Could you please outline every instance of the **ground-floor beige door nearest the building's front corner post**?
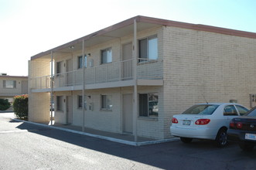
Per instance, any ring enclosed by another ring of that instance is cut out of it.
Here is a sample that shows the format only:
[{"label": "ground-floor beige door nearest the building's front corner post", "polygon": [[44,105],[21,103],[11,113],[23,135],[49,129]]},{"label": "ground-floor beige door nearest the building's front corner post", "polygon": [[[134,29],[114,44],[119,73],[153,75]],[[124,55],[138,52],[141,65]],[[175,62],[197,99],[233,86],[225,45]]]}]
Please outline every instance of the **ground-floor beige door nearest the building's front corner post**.
[{"label": "ground-floor beige door nearest the building's front corner post", "polygon": [[123,94],[123,131],[132,133],[133,131],[133,104],[132,94]]}]

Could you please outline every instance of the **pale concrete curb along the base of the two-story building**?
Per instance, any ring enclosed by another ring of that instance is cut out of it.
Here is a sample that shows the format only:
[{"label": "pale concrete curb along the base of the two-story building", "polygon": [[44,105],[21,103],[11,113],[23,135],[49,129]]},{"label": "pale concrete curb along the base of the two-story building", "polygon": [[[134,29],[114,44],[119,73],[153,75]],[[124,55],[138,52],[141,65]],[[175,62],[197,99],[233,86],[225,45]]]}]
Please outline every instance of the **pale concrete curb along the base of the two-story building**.
[{"label": "pale concrete curb along the base of the two-story building", "polygon": [[125,140],[101,136],[101,135],[97,135],[97,134],[89,134],[89,133],[86,133],[83,131],[74,131],[74,130],[70,130],[70,129],[66,129],[66,128],[60,128],[60,127],[50,126],[50,125],[46,125],[46,124],[39,124],[39,123],[35,123],[32,121],[22,121],[22,120],[15,119],[15,118],[12,118],[12,120],[24,122],[24,123],[28,123],[28,124],[35,124],[35,125],[39,125],[39,126],[42,126],[45,128],[53,128],[53,129],[57,129],[60,131],[68,131],[68,132],[71,132],[74,134],[82,134],[82,135],[87,135],[87,136],[94,137],[94,138],[101,138],[101,139],[104,139],[107,141],[114,141],[114,142],[118,142],[118,143],[125,144],[125,145],[131,145],[131,146],[152,145],[152,144],[160,144],[160,143],[169,142],[169,141],[179,141],[179,138],[169,138],[169,139],[163,139],[163,140],[157,140],[157,141],[142,141],[142,142],[125,141]]}]

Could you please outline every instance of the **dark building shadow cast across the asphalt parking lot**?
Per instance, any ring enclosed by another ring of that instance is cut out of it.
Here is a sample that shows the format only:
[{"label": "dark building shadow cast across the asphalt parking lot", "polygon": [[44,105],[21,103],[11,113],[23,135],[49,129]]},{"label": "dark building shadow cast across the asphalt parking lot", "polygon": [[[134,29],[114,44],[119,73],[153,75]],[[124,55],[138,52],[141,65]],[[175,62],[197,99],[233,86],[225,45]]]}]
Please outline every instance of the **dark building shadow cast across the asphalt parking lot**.
[{"label": "dark building shadow cast across the asphalt parking lot", "polygon": [[[77,145],[94,151],[100,151],[108,155],[114,155],[120,158],[129,159],[131,161],[140,162],[142,164],[163,169],[172,169],[172,165],[174,164],[176,164],[179,168],[184,166],[187,169],[189,165],[186,165],[186,161],[193,162],[193,160],[196,160],[197,157],[202,156],[202,153],[207,159],[209,159],[209,161],[210,159],[221,159],[222,157],[226,158],[228,157],[229,153],[227,153],[227,155],[217,155],[218,151],[224,149],[227,149],[227,151],[237,149],[236,154],[238,156],[253,160],[256,158],[255,150],[249,153],[244,153],[243,151],[240,151],[239,148],[237,148],[237,146],[234,144],[227,146],[227,148],[217,148],[213,145],[212,141],[195,140],[188,145],[185,145],[180,141],[172,141],[162,144],[135,147],[112,141],[106,141],[100,138],[92,138],[83,134],[73,134],[67,131],[40,127],[38,125],[28,124],[26,122],[23,122],[17,128],[22,130],[26,129],[32,133],[68,142],[72,145]],[[184,162],[181,162],[181,160]]]}]

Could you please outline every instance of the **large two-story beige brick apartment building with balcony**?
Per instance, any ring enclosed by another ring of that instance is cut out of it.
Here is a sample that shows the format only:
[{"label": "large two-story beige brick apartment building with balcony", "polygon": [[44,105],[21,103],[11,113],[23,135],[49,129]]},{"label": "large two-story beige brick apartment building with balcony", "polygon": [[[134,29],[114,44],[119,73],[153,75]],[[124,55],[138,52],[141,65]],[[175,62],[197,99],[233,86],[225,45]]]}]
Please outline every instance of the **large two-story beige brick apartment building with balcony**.
[{"label": "large two-story beige brick apartment building with balcony", "polygon": [[136,16],[32,56],[29,121],[50,120],[52,92],[58,123],[169,138],[193,104],[249,107],[255,65],[256,33]]}]

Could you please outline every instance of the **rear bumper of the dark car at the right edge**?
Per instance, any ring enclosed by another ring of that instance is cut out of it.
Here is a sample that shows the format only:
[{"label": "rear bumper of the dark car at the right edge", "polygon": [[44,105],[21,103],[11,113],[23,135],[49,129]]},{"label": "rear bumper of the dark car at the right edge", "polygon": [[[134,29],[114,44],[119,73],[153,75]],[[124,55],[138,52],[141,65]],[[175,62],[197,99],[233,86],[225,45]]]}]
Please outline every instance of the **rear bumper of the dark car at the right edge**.
[{"label": "rear bumper of the dark car at the right edge", "polygon": [[246,133],[250,133],[250,131],[238,131],[238,130],[234,130],[234,129],[228,129],[227,130],[227,140],[234,141],[237,143],[256,145],[256,141],[247,140],[244,138]]}]

